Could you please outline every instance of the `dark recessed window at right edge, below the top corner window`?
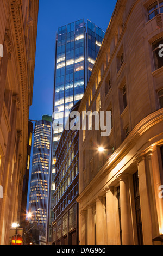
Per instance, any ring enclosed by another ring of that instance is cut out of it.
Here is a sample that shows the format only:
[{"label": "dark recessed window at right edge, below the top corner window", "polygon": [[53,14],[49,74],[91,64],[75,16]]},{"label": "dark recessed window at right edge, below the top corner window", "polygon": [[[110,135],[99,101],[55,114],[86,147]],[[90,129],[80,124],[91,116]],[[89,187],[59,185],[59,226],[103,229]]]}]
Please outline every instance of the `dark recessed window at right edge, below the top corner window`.
[{"label": "dark recessed window at right edge, below the top corner window", "polygon": [[159,69],[163,66],[163,57],[159,56],[159,51],[161,48],[159,47],[161,44],[163,44],[163,38],[160,38],[153,42],[152,44],[152,51],[153,51],[153,59],[154,59],[154,66],[155,70]]}]

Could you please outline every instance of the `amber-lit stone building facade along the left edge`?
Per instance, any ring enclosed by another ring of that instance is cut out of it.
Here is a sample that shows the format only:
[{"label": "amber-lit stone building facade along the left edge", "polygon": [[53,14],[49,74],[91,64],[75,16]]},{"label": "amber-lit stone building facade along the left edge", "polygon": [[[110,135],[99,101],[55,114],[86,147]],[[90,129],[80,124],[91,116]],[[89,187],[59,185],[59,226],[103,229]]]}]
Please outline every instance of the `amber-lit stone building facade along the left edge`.
[{"label": "amber-lit stone building facade along the left edge", "polygon": [[19,223],[32,105],[39,0],[0,2],[0,244]]}]

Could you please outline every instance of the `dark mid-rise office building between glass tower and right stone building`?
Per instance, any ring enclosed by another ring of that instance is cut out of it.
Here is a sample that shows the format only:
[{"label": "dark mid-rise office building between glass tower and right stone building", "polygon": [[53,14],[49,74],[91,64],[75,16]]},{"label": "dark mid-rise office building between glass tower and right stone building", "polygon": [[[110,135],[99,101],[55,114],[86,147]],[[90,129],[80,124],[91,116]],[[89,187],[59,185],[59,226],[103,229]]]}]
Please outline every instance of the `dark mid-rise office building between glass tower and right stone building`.
[{"label": "dark mid-rise office building between glass tower and right stone building", "polygon": [[[79,104],[71,112],[78,111]],[[56,157],[52,245],[78,245],[79,131],[62,132]]]}]

